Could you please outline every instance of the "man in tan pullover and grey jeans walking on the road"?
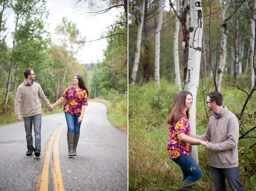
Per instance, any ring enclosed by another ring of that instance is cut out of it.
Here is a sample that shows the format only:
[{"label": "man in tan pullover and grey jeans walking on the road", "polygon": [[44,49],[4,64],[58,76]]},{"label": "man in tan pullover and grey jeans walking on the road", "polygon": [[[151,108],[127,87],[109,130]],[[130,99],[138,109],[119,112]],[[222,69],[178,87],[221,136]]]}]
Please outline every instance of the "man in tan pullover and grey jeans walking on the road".
[{"label": "man in tan pullover and grey jeans walking on the road", "polygon": [[[52,105],[44,95],[44,92],[40,84],[34,82],[35,73],[34,69],[26,69],[24,72],[25,80],[22,83],[16,93],[15,98],[15,114],[18,121],[22,121],[20,115],[20,103],[22,103],[22,115],[25,124],[27,156],[34,154],[36,157],[40,156],[41,152],[41,121],[42,121],[42,105],[40,99],[46,104],[48,110],[52,111]],[[40,98],[40,99],[39,99]],[[34,124],[34,134],[35,134],[35,147],[33,146],[32,137],[32,124]]]}]

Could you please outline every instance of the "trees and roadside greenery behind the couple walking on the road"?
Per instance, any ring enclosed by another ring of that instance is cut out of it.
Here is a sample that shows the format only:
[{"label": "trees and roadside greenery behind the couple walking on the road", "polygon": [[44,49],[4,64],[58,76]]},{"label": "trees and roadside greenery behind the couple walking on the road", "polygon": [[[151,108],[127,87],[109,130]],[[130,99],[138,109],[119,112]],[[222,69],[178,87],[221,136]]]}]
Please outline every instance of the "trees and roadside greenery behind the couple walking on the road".
[{"label": "trees and roadside greenery behind the couple walking on the road", "polygon": [[[126,2],[126,3],[125,3]],[[16,122],[14,99],[24,81],[24,70],[33,68],[39,83],[53,104],[72,85],[75,74],[84,77],[89,100],[104,102],[115,126],[127,132],[127,1],[76,0],[76,6],[86,7],[90,14],[104,14],[119,9],[100,39],[107,39],[104,58],[98,63],[78,63],[76,53],[85,44],[75,21],[64,17],[55,28],[58,42],[52,43],[47,31],[48,10],[45,0],[3,0],[0,2],[0,125]],[[14,31],[7,23],[14,14]],[[81,17],[83,15],[81,14]],[[12,45],[6,44],[12,39]],[[97,39],[95,39],[97,40]],[[60,106],[54,112],[62,112]],[[50,114],[42,104],[43,114]]]}]

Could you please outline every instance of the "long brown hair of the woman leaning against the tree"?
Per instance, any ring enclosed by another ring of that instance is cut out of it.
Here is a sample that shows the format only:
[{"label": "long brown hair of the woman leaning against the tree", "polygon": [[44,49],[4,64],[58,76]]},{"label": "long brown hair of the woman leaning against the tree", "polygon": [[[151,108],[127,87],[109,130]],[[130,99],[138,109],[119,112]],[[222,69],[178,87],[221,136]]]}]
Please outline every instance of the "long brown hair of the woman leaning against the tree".
[{"label": "long brown hair of the woman leaning against the tree", "polygon": [[[175,99],[174,105],[168,117],[168,124],[175,124],[182,117],[186,104],[186,96],[191,95],[189,91],[180,91]],[[193,96],[192,96],[193,97]],[[189,119],[189,110],[186,111],[187,118]]]}]

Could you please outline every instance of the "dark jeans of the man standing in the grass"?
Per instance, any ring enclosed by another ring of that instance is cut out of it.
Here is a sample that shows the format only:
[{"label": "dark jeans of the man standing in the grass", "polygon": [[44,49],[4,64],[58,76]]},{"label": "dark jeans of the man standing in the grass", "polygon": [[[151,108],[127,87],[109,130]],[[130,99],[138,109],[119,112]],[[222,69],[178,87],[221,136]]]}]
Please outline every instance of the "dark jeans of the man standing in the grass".
[{"label": "dark jeans of the man standing in the grass", "polygon": [[214,168],[211,166],[212,178],[217,191],[226,191],[226,179],[232,191],[242,191],[238,167],[233,168]]}]

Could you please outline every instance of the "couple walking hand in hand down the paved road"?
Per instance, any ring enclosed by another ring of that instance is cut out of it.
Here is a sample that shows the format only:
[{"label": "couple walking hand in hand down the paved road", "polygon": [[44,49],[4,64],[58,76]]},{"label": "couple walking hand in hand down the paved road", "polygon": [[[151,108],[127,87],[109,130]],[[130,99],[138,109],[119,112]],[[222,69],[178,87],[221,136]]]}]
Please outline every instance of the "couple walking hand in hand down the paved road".
[{"label": "couple walking hand in hand down the paved road", "polygon": [[[76,147],[80,136],[80,126],[83,120],[88,96],[88,89],[84,83],[84,79],[80,75],[75,75],[73,78],[73,86],[68,87],[62,94],[62,97],[51,105],[44,95],[40,84],[34,82],[36,77],[34,69],[26,69],[24,75],[26,79],[17,89],[14,108],[16,118],[21,122],[20,104],[22,103],[22,115],[28,148],[26,155],[31,156],[34,152],[35,156],[39,157],[41,154],[41,99],[50,112],[66,100],[63,110],[68,126],[68,156],[76,156]],[[32,124],[34,124],[35,147],[33,146]]]}]

